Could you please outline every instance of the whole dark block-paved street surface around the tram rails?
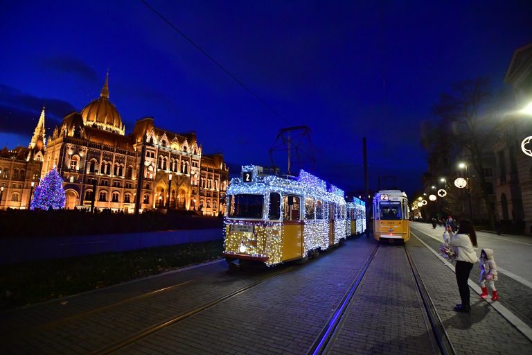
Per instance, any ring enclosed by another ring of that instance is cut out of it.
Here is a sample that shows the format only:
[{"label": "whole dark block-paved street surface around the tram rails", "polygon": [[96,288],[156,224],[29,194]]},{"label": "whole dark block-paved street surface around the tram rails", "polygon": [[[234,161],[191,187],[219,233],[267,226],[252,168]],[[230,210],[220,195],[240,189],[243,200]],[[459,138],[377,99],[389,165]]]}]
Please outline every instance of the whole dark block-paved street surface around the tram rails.
[{"label": "whole dark block-paved street surface around the tram rails", "polygon": [[[455,313],[452,306],[459,295],[453,270],[434,254],[440,231],[413,223],[412,232],[407,248],[456,353],[529,354],[532,342],[523,332],[530,329],[531,288],[502,273],[497,284],[501,301],[490,304],[472,291],[471,313]],[[530,248],[524,238],[511,237],[519,243],[505,243],[504,238],[510,237],[479,236],[481,245],[492,246],[496,255],[505,244],[501,254]],[[10,311],[0,315],[0,351],[306,354],[377,245],[362,236],[308,263],[265,271],[230,274],[224,261],[213,262]],[[517,260],[502,264],[529,279]],[[474,269],[472,281],[477,274]],[[510,315],[499,313],[497,304]],[[520,327],[511,323],[512,314],[522,320]],[[141,334],[172,319],[172,324]],[[383,244],[348,306],[330,353],[436,354],[431,339],[402,245]]]}]

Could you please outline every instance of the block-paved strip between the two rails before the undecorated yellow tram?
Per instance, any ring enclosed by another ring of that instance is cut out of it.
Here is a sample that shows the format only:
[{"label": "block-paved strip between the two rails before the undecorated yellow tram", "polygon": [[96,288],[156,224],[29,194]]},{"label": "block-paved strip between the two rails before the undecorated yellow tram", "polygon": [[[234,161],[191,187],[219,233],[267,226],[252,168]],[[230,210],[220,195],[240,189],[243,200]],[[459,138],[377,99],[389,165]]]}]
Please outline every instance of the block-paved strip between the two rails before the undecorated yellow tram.
[{"label": "block-paved strip between the two rails before the undecorated yellow tram", "polygon": [[434,354],[402,245],[375,254],[330,354]]}]

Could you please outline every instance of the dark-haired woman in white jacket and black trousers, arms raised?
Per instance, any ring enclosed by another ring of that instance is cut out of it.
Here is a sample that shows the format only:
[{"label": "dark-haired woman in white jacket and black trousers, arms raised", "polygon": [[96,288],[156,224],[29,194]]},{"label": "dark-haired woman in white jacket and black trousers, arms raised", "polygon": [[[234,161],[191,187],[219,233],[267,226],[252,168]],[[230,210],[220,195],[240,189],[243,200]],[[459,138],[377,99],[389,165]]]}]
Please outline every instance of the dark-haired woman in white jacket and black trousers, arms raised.
[{"label": "dark-haired woman in white jacket and black trousers, arms raised", "polygon": [[[473,264],[477,262],[477,234],[470,220],[463,219],[460,222],[459,230],[456,234],[452,231],[450,224],[446,225],[447,230],[443,233],[443,239],[447,247],[453,247],[456,251],[456,284],[460,293],[461,304],[456,304],[454,311],[469,312],[471,305],[469,303],[469,286],[468,279]],[[447,235],[445,235],[447,234]]]}]

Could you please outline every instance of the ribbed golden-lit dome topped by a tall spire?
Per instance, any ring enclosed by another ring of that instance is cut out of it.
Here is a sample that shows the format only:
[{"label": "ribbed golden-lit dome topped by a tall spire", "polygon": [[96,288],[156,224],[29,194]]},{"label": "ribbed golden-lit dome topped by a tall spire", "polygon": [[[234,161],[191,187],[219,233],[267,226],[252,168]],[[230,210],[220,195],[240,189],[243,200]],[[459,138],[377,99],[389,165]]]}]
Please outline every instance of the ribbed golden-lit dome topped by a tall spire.
[{"label": "ribbed golden-lit dome topped by a tall spire", "polygon": [[118,135],[125,134],[125,126],[116,107],[109,101],[109,73],[105,78],[100,98],[91,101],[89,105],[81,110],[83,117],[83,124],[87,127],[94,127],[107,132],[117,133]]}]

